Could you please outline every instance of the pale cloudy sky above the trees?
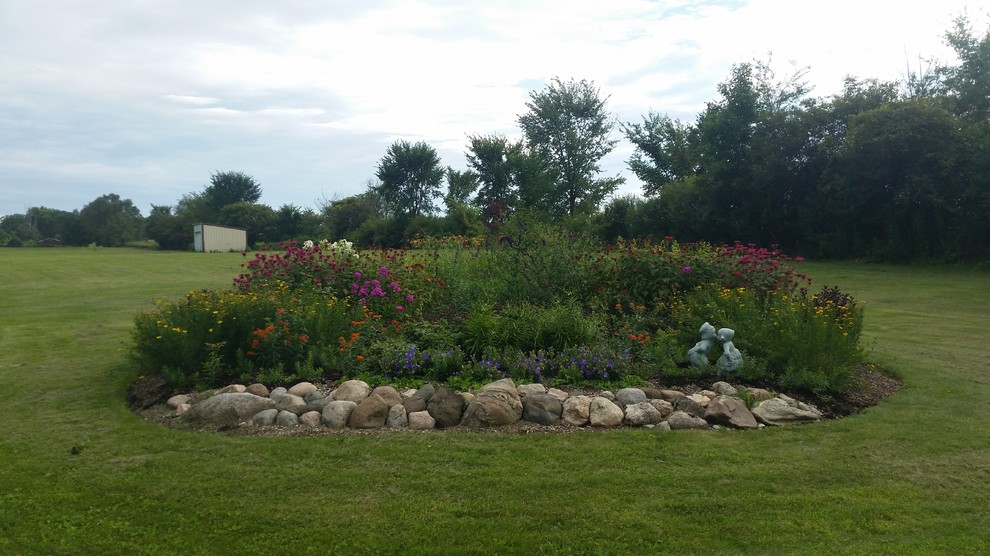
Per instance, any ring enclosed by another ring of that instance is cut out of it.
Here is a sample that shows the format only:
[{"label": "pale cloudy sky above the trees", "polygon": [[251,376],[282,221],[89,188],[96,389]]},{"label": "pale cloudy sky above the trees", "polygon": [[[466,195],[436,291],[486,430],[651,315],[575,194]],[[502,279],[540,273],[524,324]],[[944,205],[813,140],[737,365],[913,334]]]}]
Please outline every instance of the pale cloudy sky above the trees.
[{"label": "pale cloudy sky above the trees", "polygon": [[[693,122],[733,64],[847,76],[954,63],[942,36],[982,2],[886,0],[0,0],[0,216],[142,214],[237,171],[278,208],[366,190],[398,139],[465,169],[469,135],[520,137],[554,77],[587,79],[617,122]],[[640,184],[618,127],[603,173]]]}]

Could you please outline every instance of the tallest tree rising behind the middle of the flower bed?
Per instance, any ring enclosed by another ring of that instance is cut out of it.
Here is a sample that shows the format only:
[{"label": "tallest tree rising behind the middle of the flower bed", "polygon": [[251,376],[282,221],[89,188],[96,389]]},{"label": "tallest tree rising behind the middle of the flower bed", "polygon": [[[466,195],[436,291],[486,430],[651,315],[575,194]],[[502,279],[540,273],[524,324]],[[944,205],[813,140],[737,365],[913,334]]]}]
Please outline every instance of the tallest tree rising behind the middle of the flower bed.
[{"label": "tallest tree rising behind the middle of the flower bed", "polygon": [[539,152],[557,176],[555,212],[590,213],[624,179],[599,178],[599,161],[615,148],[614,122],[593,83],[554,78],[543,91],[530,93],[529,111],[519,116],[529,147]]}]

